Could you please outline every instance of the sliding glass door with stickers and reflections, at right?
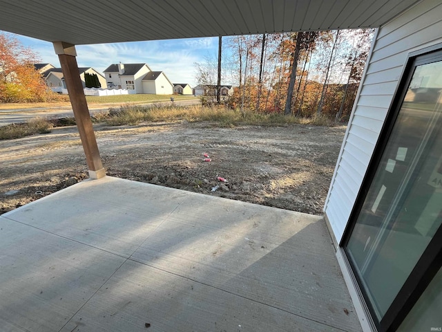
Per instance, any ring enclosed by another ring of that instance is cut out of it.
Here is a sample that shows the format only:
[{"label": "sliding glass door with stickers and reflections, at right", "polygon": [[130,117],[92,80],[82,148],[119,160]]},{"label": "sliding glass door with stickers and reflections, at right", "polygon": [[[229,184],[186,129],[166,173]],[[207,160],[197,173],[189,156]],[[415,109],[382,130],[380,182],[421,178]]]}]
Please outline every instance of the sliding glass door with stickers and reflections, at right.
[{"label": "sliding glass door with stickers and reflections, at right", "polygon": [[398,298],[419,287],[429,266],[440,267],[428,257],[439,250],[430,243],[442,240],[442,54],[416,57],[397,94],[344,243],[380,330],[410,310]]}]

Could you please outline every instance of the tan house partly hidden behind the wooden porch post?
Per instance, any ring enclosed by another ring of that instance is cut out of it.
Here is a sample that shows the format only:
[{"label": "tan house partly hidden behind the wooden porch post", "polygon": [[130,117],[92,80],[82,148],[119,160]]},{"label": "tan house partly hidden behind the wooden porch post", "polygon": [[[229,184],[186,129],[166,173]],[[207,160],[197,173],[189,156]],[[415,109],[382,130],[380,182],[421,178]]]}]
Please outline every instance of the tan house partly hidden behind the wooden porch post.
[{"label": "tan house partly hidden behind the wooden porch post", "polygon": [[[37,71],[39,71],[39,73],[41,73],[41,76],[44,78],[46,85],[48,85],[50,88],[66,89],[66,84],[64,84],[64,77],[61,68],[55,68],[55,66],[52,66],[52,64],[34,64],[34,67]],[[86,87],[86,82],[84,80],[85,73],[97,75],[101,87],[106,87],[106,79],[101,73],[95,71],[94,68],[81,67],[78,69],[80,72],[80,78],[81,82],[83,83],[83,87]]]}]

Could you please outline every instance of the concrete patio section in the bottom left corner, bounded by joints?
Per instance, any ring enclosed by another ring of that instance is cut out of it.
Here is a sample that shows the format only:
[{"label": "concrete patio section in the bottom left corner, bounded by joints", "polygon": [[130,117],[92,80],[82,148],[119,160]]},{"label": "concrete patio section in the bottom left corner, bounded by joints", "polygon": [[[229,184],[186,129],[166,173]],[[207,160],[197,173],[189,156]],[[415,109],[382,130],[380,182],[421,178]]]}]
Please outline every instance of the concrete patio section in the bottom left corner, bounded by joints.
[{"label": "concrete patio section in the bottom left corner, bounded by joints", "polygon": [[0,216],[0,330],[59,331],[124,261]]}]

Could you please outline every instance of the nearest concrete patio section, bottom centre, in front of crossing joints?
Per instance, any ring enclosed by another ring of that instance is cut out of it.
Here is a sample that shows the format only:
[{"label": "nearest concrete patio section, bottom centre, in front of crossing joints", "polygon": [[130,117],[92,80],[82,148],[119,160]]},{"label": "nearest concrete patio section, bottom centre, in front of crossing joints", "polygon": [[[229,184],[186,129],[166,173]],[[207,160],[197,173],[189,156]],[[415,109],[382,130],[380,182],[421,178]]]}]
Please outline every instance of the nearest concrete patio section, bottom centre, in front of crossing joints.
[{"label": "nearest concrete patio section, bottom centre, in front of crossing joints", "polygon": [[127,261],[61,331],[342,330]]}]

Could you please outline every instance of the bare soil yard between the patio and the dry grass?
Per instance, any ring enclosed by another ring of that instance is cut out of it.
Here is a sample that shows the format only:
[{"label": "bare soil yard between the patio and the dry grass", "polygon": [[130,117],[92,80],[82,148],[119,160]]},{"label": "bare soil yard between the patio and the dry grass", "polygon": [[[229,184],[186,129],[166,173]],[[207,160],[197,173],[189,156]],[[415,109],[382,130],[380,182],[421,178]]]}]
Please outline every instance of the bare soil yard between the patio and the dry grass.
[{"label": "bare soil yard between the patio and the dry grass", "polygon": [[[108,175],[309,214],[323,212],[345,133],[302,124],[187,122],[95,130]],[[0,141],[0,153],[0,214],[87,178],[76,127]]]}]

